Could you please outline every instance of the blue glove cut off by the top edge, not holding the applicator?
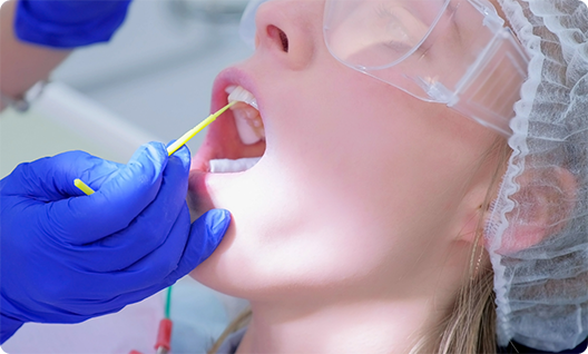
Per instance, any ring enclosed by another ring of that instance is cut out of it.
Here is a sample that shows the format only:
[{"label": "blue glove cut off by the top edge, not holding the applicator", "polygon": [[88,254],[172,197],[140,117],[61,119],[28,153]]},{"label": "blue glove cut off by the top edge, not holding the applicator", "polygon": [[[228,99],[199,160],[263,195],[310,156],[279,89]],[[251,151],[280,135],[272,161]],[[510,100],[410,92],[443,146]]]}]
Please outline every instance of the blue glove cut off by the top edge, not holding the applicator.
[{"label": "blue glove cut off by the top edge, not holding the applicator", "polygon": [[19,0],[14,30],[23,41],[74,48],[110,40],[130,0]]}]

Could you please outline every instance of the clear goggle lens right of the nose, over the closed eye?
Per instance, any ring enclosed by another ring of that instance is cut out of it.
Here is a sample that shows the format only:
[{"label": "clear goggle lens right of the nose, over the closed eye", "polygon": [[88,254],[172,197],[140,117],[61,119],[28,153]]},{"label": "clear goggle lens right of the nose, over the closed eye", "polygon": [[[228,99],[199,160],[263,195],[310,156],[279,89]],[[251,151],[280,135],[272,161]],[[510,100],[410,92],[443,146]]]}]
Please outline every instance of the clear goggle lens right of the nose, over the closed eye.
[{"label": "clear goggle lens right of the nose, over the closed eye", "polygon": [[393,66],[423,45],[448,3],[449,0],[327,0],[325,43],[335,58],[350,66]]}]

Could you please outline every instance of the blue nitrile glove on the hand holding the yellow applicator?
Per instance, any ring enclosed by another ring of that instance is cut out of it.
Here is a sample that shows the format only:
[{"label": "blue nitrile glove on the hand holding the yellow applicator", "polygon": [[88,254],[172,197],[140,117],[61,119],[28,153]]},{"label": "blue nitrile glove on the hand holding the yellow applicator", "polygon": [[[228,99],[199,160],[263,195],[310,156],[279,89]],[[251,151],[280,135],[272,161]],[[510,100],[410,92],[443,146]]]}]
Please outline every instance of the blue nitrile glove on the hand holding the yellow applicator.
[{"label": "blue nitrile glove on the hand holding the yellow applicator", "polygon": [[186,147],[168,158],[151,142],[127,165],[72,151],[0,180],[0,343],[24,322],[117,312],[206,259],[231,215],[212,210],[190,226],[188,169]]}]

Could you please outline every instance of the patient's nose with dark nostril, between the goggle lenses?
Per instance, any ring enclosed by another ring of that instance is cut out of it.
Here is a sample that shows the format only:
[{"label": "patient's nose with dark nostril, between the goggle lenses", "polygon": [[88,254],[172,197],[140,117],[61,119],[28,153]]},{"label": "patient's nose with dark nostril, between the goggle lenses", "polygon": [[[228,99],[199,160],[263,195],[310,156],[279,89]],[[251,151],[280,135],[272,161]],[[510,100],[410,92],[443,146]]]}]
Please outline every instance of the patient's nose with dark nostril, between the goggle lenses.
[{"label": "patient's nose with dark nostril, between the goggle lenses", "polygon": [[[322,4],[322,6],[321,6]],[[256,16],[256,47],[290,69],[307,67],[322,43],[324,1],[272,0]]]}]

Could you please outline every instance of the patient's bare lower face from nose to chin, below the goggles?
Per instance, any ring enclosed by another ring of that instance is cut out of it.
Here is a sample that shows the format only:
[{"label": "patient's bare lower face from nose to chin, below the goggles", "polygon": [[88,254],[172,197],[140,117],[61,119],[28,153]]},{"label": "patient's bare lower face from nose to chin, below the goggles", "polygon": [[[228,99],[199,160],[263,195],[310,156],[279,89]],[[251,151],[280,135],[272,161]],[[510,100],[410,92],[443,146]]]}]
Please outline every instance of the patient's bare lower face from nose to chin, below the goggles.
[{"label": "patient's bare lower face from nose to chin, below the goggles", "polygon": [[[464,204],[477,203],[468,190],[491,175],[477,166],[493,131],[336,61],[323,41],[323,0],[264,4],[255,55],[216,81],[213,109],[226,104],[226,87],[243,86],[266,136],[242,144],[228,114],[193,160],[193,214],[233,215],[218,249],[193,272],[220,292],[251,299],[416,292],[422,275],[452,262],[448,244],[472,217]],[[207,171],[210,158],[262,155],[246,171]]]}]

